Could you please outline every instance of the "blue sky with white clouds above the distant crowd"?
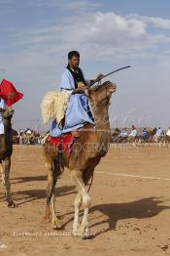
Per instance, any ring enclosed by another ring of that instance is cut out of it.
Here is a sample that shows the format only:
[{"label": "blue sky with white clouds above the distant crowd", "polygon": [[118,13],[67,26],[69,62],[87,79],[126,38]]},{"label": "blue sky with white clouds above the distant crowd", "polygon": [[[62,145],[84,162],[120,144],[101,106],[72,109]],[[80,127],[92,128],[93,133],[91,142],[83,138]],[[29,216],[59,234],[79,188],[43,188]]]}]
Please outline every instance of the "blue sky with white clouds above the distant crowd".
[{"label": "blue sky with white clouds above the distant crowd", "polygon": [[0,0],[0,79],[24,94],[14,127],[40,127],[41,100],[57,90],[67,53],[76,49],[86,78],[131,64],[109,77],[118,85],[112,126],[166,128],[169,10],[168,0]]}]

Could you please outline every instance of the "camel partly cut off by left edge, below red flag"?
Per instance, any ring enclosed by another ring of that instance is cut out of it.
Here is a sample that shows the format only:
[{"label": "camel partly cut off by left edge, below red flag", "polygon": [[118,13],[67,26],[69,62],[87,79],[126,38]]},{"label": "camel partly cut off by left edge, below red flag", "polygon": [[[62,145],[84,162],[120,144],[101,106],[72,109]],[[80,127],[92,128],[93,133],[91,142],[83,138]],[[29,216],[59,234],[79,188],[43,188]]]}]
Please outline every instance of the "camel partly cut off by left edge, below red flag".
[{"label": "camel partly cut off by left edge, below red flag", "polygon": [[13,134],[11,119],[14,114],[12,107],[1,108],[2,120],[4,124],[4,134],[0,135],[0,169],[2,173],[2,184],[7,192],[9,207],[16,207],[11,194],[10,168],[11,156],[13,152]]}]

